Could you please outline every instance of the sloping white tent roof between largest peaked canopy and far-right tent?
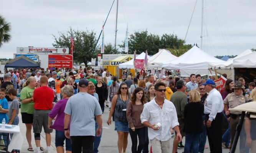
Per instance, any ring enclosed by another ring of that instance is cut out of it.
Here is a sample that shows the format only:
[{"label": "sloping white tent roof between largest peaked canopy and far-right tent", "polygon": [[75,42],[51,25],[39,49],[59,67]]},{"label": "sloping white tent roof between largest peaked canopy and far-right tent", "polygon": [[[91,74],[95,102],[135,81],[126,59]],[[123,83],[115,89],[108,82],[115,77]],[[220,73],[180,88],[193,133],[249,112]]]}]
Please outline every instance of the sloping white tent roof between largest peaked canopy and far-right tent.
[{"label": "sloping white tent roof between largest peaked canopy and far-right tent", "polygon": [[228,59],[226,62],[221,63],[209,63],[209,68],[213,69],[220,69],[220,70],[229,70],[230,68],[233,69],[233,60],[243,57],[245,55],[251,54],[252,51],[250,49],[244,50],[241,54],[237,55],[232,59]]}]

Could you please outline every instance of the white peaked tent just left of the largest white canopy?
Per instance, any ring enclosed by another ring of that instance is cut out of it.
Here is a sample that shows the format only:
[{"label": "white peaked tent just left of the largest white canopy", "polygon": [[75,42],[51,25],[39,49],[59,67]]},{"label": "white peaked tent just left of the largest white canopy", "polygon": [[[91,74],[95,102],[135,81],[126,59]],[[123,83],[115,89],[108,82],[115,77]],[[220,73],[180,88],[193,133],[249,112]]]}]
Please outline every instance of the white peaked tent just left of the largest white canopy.
[{"label": "white peaked tent just left of the largest white canopy", "polygon": [[164,62],[176,59],[177,56],[166,49],[161,49],[157,54],[148,58],[148,69],[162,68]]}]

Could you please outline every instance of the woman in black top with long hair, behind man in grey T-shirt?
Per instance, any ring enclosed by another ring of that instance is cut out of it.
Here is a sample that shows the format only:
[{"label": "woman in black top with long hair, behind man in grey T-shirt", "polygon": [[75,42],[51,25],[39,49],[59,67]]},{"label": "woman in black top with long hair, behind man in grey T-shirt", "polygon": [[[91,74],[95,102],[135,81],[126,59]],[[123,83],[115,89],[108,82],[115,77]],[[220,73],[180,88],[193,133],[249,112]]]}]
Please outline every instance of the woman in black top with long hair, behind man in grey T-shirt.
[{"label": "woman in black top with long hair, behind man in grey T-shirt", "polygon": [[102,77],[98,76],[98,83],[96,85],[96,93],[99,96],[99,105],[101,106],[102,113],[104,112],[104,103],[107,101],[107,85],[102,81]]}]

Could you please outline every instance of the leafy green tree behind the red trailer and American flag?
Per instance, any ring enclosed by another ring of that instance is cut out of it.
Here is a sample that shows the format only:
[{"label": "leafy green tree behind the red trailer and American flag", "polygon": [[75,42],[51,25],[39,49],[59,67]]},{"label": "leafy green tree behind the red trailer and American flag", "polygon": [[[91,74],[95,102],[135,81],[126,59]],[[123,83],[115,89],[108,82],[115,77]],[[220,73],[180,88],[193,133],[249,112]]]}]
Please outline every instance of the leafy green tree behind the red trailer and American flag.
[{"label": "leafy green tree behind the red trailer and American flag", "polygon": [[59,32],[59,36],[54,36],[55,43],[53,44],[54,47],[68,47],[70,50],[71,42],[70,37],[71,34],[74,35],[74,52],[73,52],[73,59],[76,62],[84,63],[87,67],[87,63],[91,61],[91,58],[96,58],[99,51],[99,45],[94,50],[96,46],[96,33],[94,31],[75,31],[71,27],[69,31],[66,31],[64,34],[63,32]]}]

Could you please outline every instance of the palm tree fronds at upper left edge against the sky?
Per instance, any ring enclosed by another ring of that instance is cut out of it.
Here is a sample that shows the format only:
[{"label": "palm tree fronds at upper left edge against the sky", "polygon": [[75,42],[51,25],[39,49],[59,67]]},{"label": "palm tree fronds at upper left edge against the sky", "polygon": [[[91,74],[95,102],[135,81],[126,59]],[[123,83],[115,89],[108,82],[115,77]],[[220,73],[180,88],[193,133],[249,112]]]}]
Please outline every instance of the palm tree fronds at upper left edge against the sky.
[{"label": "palm tree fronds at upper left edge against the sky", "polygon": [[11,40],[11,24],[5,21],[5,18],[0,15],[0,47],[2,47],[4,42],[9,42]]}]

